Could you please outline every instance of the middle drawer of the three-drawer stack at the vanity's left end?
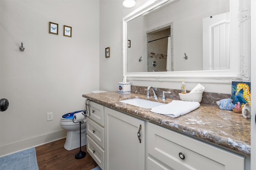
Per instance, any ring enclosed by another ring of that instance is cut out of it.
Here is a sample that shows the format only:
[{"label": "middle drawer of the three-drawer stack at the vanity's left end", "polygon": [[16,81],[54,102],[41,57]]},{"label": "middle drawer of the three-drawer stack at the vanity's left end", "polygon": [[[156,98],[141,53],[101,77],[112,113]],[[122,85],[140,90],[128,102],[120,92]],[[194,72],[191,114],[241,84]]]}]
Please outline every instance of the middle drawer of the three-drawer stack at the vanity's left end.
[{"label": "middle drawer of the three-drawer stack at the vanity's left end", "polygon": [[86,122],[86,132],[100,147],[104,149],[104,128],[92,121],[90,118]]}]

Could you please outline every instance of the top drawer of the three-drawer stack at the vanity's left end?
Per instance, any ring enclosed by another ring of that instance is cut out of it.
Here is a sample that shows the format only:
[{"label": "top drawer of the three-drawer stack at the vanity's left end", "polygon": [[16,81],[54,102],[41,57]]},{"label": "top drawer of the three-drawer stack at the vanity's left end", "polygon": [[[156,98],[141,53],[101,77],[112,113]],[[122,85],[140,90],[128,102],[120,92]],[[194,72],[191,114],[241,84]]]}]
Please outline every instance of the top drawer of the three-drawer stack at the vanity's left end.
[{"label": "top drawer of the three-drawer stack at the vanity's left end", "polygon": [[92,101],[90,101],[89,104],[90,104],[90,118],[93,121],[104,126],[104,106],[100,104],[96,104]]}]

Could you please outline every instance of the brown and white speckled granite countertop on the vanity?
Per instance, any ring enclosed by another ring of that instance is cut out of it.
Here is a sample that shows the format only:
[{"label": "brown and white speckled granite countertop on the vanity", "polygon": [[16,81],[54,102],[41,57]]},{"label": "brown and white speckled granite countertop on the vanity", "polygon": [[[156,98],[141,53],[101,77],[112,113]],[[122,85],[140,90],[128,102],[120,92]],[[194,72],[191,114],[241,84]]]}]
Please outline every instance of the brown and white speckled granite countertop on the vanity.
[{"label": "brown and white speckled granite countertop on the vanity", "polygon": [[[121,94],[118,92],[103,92],[83,94],[84,98],[98,104],[118,109],[130,115],[148,120],[163,127],[196,137],[202,141],[225,147],[243,154],[250,155],[250,119],[244,119],[240,113],[221,110],[218,106],[201,104],[196,110],[177,118],[153,113],[150,109],[132,106],[119,102],[130,98],[146,99],[141,94]],[[172,100],[146,100],[169,103]]]}]

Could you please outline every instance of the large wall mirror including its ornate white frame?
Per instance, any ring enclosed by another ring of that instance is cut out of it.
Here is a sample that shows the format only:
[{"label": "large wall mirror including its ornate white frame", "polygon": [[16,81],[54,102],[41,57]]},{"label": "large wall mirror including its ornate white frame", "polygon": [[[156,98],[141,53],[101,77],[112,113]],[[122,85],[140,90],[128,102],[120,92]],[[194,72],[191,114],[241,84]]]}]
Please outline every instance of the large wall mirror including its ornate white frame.
[{"label": "large wall mirror including its ornate white frame", "polygon": [[250,0],[156,0],[123,18],[127,80],[248,81],[248,48]]}]

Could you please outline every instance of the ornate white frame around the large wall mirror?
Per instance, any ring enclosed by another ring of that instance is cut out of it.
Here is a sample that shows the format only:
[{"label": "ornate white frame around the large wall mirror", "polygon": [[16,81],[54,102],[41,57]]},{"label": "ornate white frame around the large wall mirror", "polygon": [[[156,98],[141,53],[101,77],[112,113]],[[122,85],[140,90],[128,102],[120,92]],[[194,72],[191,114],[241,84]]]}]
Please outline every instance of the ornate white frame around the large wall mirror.
[{"label": "ornate white frame around the large wall mirror", "polygon": [[230,0],[230,70],[127,72],[127,22],[174,0],[157,0],[144,4],[123,18],[123,76],[127,80],[230,84],[232,81],[250,81],[250,0]]}]

